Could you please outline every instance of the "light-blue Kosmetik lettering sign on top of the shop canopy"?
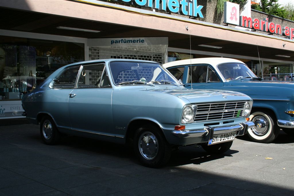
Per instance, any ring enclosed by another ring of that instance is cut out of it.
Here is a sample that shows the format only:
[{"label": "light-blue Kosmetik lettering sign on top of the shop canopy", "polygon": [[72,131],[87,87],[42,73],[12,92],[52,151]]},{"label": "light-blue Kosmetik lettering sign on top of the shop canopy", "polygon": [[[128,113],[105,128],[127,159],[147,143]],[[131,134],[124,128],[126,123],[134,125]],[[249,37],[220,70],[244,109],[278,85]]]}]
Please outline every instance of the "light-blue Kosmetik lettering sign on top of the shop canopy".
[{"label": "light-blue Kosmetik lettering sign on top of the shop canopy", "polygon": [[[106,1],[106,0],[104,0]],[[203,18],[201,9],[203,6],[197,5],[197,0],[113,0],[121,1],[141,7],[148,7],[163,10],[175,14],[194,16]]]}]

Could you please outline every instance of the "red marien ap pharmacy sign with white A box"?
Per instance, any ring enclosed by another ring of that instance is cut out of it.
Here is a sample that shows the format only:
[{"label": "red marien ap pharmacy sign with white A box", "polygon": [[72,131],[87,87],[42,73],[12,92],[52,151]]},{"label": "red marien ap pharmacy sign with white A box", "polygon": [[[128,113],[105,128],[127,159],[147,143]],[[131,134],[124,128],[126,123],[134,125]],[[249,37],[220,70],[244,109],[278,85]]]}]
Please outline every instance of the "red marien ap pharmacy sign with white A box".
[{"label": "red marien ap pharmacy sign with white A box", "polygon": [[255,29],[259,31],[265,31],[272,34],[278,34],[287,36],[289,39],[294,39],[294,28],[288,26],[281,26],[269,22],[268,18],[259,20],[252,19],[248,16],[239,16],[239,5],[231,2],[225,2],[225,20],[226,24],[233,24],[236,26],[242,26],[245,28]]}]

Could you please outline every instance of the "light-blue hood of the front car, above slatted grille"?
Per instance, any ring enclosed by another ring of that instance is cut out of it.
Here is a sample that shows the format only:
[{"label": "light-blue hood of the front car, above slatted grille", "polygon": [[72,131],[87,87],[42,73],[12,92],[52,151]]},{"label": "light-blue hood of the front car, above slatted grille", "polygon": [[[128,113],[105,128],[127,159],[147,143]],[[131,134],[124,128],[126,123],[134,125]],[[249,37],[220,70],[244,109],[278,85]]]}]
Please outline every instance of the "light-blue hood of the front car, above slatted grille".
[{"label": "light-blue hood of the front car, above slatted grille", "polygon": [[176,96],[180,99],[189,100],[191,103],[225,102],[237,100],[250,100],[250,97],[243,93],[220,90],[199,90],[199,89],[153,89],[152,92],[161,92]]}]

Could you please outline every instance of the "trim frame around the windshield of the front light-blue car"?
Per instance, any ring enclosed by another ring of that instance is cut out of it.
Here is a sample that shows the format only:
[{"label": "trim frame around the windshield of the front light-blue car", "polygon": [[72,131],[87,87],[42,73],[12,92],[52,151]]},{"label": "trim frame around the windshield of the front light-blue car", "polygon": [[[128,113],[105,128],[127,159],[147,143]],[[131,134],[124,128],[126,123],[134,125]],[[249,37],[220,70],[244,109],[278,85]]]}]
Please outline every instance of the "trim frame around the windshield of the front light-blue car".
[{"label": "trim frame around the windshield of the front light-blue car", "polygon": [[113,78],[113,75],[112,75],[112,72],[111,72],[111,67],[110,67],[110,64],[112,62],[124,62],[124,63],[127,63],[127,62],[130,62],[130,63],[149,63],[149,64],[157,64],[159,65],[164,71],[166,71],[166,73],[168,74],[168,76],[170,76],[171,78],[173,78],[174,81],[176,81],[174,84],[171,83],[171,84],[154,84],[154,85],[176,85],[176,86],[181,86],[181,84],[178,82],[178,80],[165,68],[163,67],[160,63],[157,63],[157,62],[153,62],[153,61],[121,61],[121,60],[115,60],[115,61],[109,61],[108,62],[108,68],[109,68],[109,73],[111,75],[111,80],[113,82],[113,85],[114,86],[118,86],[118,87],[122,87],[122,86],[146,86],[148,84],[130,84],[130,85],[117,85],[114,81],[114,78]]}]

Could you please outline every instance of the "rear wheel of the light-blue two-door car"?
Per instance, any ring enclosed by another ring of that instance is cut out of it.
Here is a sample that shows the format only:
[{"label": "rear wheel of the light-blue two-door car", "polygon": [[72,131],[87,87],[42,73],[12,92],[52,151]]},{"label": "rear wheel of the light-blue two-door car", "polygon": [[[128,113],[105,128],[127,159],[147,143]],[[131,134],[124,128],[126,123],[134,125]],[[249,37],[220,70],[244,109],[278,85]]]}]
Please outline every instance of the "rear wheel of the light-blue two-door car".
[{"label": "rear wheel of the light-blue two-door car", "polygon": [[41,120],[40,124],[41,138],[45,144],[54,145],[60,138],[60,133],[56,128],[53,119],[49,116],[45,116]]}]

